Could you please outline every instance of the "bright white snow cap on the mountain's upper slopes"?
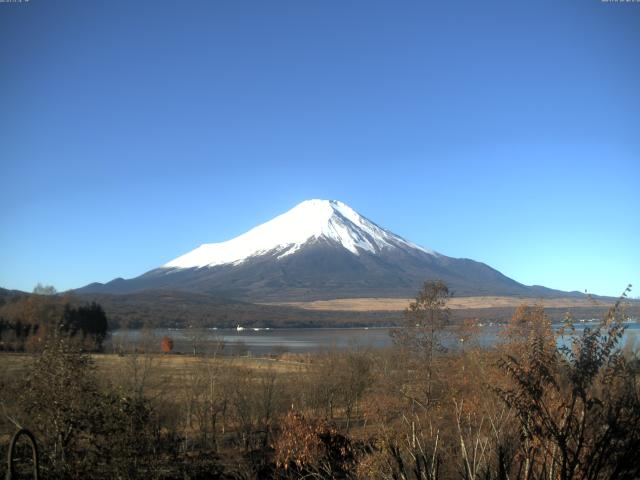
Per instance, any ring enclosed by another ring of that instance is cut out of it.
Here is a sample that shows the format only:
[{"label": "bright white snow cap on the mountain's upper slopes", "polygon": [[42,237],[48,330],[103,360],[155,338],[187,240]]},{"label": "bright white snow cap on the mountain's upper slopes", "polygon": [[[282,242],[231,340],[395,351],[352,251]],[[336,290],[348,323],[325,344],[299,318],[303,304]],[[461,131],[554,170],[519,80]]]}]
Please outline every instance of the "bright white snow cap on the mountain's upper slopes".
[{"label": "bright white snow cap on the mountain's upper slopes", "polygon": [[269,252],[282,259],[319,239],[335,242],[355,255],[360,251],[375,254],[396,248],[418,249],[438,255],[379,227],[342,202],[307,200],[232,240],[203,244],[162,268],[239,265],[251,257]]}]

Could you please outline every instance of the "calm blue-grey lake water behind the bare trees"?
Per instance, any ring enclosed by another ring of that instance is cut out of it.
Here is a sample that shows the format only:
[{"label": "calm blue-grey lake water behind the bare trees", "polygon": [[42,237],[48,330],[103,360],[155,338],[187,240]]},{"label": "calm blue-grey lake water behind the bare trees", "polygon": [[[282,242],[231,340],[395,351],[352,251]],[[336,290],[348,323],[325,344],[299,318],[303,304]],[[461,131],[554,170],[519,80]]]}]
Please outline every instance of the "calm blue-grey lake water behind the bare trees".
[{"label": "calm blue-grey lake water behind the bare trees", "polygon": [[[578,323],[580,331],[595,323]],[[500,326],[487,324],[478,328],[477,334],[468,339],[482,347],[495,345],[500,341]],[[113,333],[111,345],[107,349],[123,344],[148,343],[157,345],[164,336],[174,342],[174,353],[191,354],[211,352],[224,345],[225,354],[268,355],[273,353],[304,353],[333,348],[384,348],[392,345],[389,328],[274,328],[274,329],[154,329],[146,333],[142,330],[118,330]],[[640,344],[640,322],[626,324],[623,343]],[[462,343],[454,330],[443,339],[447,347],[459,348]]]}]

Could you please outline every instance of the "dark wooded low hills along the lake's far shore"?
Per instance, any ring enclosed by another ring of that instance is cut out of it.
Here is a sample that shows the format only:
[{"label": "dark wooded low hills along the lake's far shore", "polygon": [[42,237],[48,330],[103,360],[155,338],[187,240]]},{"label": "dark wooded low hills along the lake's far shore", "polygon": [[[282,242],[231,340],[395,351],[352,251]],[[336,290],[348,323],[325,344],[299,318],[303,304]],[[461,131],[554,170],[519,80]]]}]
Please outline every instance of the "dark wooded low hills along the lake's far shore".
[{"label": "dark wooded low hills along the lake's far shore", "polygon": [[[3,304],[14,302],[20,298],[33,294],[17,290],[0,288],[0,317]],[[384,303],[376,308],[381,310],[353,311],[315,310],[289,305],[263,305],[243,301],[229,300],[207,294],[185,291],[147,290],[131,294],[58,294],[51,297],[52,301],[63,300],[73,305],[84,305],[92,301],[98,302],[104,308],[111,329],[120,327],[142,328],[148,327],[218,327],[233,328],[236,325],[244,327],[351,327],[351,326],[391,326],[402,318],[402,309],[408,305],[394,301]],[[531,299],[529,299],[531,300]],[[363,299],[362,301],[367,301]],[[337,302],[338,304],[340,302]],[[499,305],[495,299],[487,299],[483,303],[475,299],[469,308],[455,306],[452,316],[454,321],[473,318],[483,321],[506,321],[514,311],[513,302],[509,306]],[[465,303],[465,302],[462,302]],[[550,301],[551,304],[558,302]],[[374,302],[375,304],[375,302]],[[576,305],[580,305],[576,303]],[[608,307],[604,306],[552,306],[545,310],[554,320],[564,318],[567,311],[575,318],[599,318]],[[640,302],[630,302],[627,312],[631,316],[640,317]]]}]

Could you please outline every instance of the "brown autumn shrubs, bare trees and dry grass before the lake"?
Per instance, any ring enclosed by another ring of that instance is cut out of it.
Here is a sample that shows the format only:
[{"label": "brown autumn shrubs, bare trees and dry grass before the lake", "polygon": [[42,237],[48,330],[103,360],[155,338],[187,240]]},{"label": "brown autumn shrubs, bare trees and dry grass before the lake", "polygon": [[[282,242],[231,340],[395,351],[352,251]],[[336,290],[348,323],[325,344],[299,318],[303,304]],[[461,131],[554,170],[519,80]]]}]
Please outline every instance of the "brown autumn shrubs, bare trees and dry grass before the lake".
[{"label": "brown autumn shrubs, bare trees and dry grass before the lake", "polygon": [[192,357],[155,343],[90,354],[90,335],[51,327],[37,354],[0,357],[1,443],[32,430],[44,478],[640,476],[624,298],[581,333],[523,305],[494,350],[461,324],[456,352],[439,341],[448,298],[425,284],[394,348],[277,360],[223,357],[222,344]]}]

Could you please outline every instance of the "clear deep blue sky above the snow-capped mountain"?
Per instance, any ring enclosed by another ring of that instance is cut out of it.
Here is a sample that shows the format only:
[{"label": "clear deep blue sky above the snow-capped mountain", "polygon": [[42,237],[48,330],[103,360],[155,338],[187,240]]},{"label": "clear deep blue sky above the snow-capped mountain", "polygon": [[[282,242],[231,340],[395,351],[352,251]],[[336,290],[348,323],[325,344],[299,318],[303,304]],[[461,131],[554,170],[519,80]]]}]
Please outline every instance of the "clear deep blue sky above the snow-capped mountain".
[{"label": "clear deep blue sky above the snow-capped mountain", "polygon": [[640,4],[0,3],[0,286],[137,276],[309,198],[640,295]]}]

